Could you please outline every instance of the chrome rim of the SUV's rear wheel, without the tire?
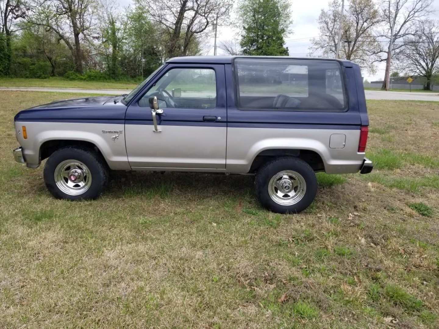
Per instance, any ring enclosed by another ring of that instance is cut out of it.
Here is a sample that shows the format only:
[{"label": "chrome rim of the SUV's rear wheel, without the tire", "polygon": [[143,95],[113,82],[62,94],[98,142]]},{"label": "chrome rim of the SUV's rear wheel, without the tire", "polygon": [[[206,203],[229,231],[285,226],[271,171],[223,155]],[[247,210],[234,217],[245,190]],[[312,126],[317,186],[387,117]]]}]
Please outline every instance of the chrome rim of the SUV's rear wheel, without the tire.
[{"label": "chrome rim of the SUV's rear wheel, without the tire", "polygon": [[306,182],[302,175],[284,170],[274,175],[268,183],[271,200],[282,206],[296,204],[305,196]]}]

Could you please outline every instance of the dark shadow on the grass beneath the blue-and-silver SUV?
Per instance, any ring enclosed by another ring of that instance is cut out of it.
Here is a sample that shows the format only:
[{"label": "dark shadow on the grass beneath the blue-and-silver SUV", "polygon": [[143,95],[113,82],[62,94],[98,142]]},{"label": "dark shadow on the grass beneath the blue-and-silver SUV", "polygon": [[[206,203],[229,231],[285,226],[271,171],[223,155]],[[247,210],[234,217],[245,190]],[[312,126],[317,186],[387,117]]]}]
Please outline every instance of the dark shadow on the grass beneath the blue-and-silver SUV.
[{"label": "dark shadow on the grass beneath the blue-and-silver SUV", "polygon": [[[174,202],[234,201],[247,207],[260,208],[255,193],[254,176],[191,172],[111,172],[106,197],[161,199]],[[354,193],[343,193],[347,180],[339,175],[317,175],[319,190],[315,202],[306,212],[317,207],[339,208],[358,199]],[[337,188],[337,185],[343,187]],[[329,201],[331,200],[331,202]]]}]

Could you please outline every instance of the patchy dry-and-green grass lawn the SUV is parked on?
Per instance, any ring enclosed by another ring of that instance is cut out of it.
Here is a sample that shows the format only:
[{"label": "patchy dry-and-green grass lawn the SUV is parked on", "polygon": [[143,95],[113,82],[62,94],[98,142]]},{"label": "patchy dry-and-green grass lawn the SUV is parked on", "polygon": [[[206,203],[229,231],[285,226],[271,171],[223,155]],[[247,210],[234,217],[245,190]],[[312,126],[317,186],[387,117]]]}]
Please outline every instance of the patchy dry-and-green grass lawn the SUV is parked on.
[{"label": "patchy dry-and-green grass lawn the SUV is parked on", "polygon": [[233,175],[113,172],[55,200],[12,158],[13,115],[83,95],[0,96],[0,327],[439,327],[439,102],[368,101],[376,170],[320,173],[278,215]]}]

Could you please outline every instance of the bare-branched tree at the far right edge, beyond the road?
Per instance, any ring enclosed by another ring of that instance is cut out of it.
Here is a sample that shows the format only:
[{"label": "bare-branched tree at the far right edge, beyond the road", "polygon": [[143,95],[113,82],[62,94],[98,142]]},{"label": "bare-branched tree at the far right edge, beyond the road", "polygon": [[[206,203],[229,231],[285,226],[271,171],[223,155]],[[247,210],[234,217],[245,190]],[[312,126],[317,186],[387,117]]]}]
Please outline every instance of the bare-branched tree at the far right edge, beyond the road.
[{"label": "bare-branched tree at the far right edge, beyond the road", "polygon": [[430,90],[432,79],[439,74],[439,26],[434,21],[421,21],[416,34],[404,39],[400,67],[407,75],[424,78],[424,89]]}]

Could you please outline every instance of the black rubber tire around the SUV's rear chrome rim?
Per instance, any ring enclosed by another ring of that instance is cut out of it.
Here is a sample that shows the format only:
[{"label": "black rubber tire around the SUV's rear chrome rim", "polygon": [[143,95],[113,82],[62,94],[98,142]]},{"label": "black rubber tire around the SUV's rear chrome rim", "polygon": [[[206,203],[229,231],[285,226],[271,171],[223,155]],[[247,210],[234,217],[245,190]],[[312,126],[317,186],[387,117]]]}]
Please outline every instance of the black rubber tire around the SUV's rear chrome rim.
[{"label": "black rubber tire around the SUV's rear chrome rim", "polygon": [[[270,180],[273,176],[285,170],[299,173],[306,184],[303,197],[297,203],[291,205],[277,203],[269,193]],[[281,214],[299,213],[309,207],[316,197],[317,178],[313,168],[305,161],[296,157],[279,157],[259,168],[255,177],[255,189],[259,202],[270,211]]]}]

